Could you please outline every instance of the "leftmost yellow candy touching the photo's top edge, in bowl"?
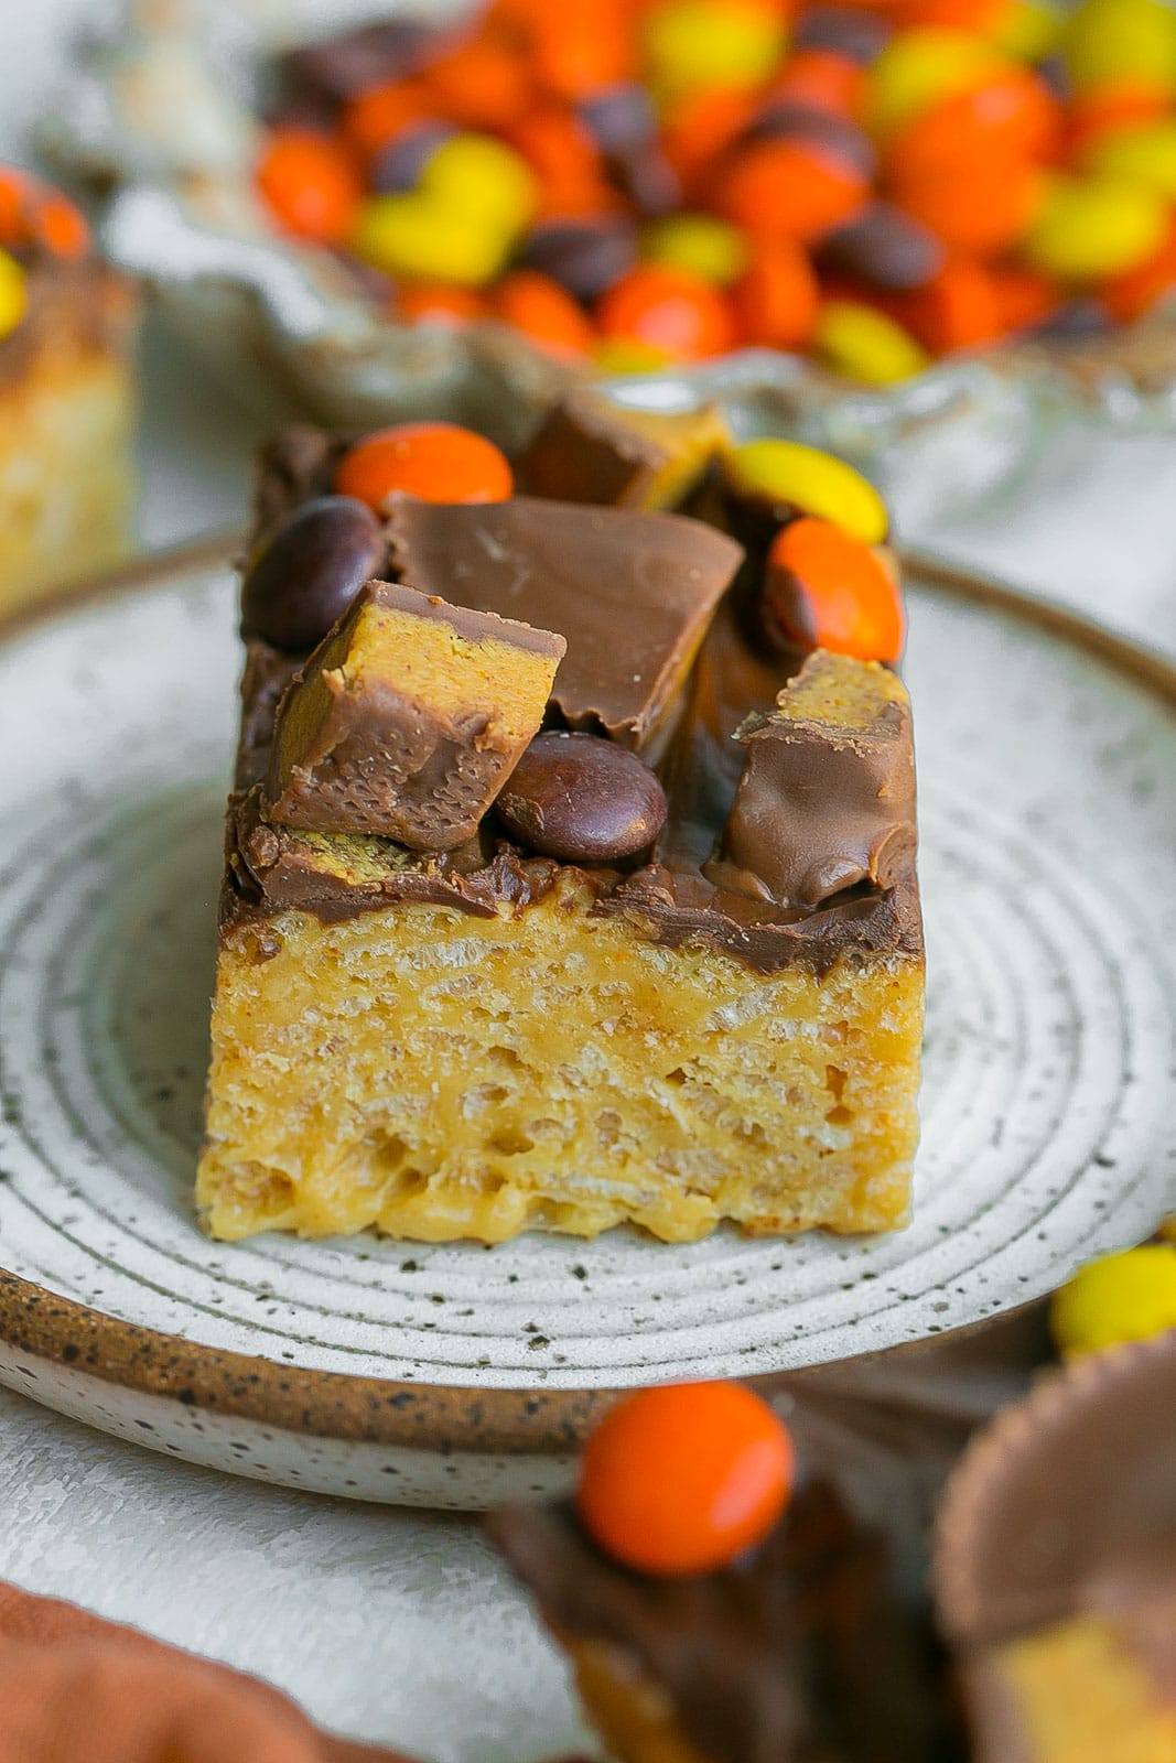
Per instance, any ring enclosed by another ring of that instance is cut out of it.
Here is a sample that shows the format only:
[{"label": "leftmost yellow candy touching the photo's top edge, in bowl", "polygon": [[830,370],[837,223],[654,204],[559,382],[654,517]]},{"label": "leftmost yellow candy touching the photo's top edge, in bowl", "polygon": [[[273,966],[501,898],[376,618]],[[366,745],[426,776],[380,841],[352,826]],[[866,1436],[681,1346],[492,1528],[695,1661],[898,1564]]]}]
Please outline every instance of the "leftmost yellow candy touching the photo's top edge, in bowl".
[{"label": "leftmost yellow candy touching the photo's top edge, in bowl", "polygon": [[644,26],[647,74],[661,95],[758,86],[785,42],[783,19],[760,0],[666,0],[645,16]]}]

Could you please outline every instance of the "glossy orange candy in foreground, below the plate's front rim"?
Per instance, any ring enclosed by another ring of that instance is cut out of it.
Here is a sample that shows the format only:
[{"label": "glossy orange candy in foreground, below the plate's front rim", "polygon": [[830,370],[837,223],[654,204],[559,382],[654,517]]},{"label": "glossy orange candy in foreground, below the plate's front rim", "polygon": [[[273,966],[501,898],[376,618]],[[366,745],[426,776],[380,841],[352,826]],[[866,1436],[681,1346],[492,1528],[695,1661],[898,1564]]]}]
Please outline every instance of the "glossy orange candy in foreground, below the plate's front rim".
[{"label": "glossy orange candy in foreground, below the plate's front rim", "polygon": [[793,1474],[786,1428],[742,1384],[663,1384],[622,1396],[591,1435],[577,1506],[614,1560],[684,1578],[763,1541]]}]

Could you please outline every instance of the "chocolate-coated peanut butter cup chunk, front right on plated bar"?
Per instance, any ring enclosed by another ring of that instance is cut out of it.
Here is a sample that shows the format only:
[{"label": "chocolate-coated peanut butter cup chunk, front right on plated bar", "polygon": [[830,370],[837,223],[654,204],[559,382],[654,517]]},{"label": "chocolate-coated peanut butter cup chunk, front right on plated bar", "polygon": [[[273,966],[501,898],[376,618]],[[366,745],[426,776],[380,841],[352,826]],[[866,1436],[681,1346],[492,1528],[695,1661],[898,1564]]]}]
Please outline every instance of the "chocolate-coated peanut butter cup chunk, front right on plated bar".
[{"label": "chocolate-coated peanut butter cup chunk, front right on plated bar", "polygon": [[[816,652],[797,688],[829,675],[836,689],[839,666]],[[778,906],[818,906],[862,883],[894,887],[908,871],[915,767],[904,702],[878,698],[864,726],[756,710],[735,739],[744,769],[705,874]]]}]

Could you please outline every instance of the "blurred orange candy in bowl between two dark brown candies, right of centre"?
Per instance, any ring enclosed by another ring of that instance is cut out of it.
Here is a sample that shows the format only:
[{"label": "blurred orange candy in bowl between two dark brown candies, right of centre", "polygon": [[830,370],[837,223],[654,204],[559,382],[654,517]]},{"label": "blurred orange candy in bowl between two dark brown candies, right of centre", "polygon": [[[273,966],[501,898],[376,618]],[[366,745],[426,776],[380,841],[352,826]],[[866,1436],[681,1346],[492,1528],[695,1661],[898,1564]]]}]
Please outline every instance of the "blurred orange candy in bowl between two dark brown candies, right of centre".
[{"label": "blurred orange candy in bowl between two dark brown candies, right of centre", "polygon": [[855,215],[867,178],[845,159],[806,141],[756,141],[732,162],[716,206],[760,238],[818,238]]}]

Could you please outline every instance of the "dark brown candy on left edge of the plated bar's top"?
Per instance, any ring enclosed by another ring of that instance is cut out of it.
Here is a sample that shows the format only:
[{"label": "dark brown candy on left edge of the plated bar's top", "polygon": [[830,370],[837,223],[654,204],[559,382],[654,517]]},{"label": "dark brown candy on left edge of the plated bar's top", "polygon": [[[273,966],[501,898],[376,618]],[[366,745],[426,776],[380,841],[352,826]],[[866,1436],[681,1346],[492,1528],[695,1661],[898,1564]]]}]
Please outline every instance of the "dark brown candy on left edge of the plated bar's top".
[{"label": "dark brown candy on left edge of the plated bar's top", "polygon": [[376,575],[384,534],[351,495],[305,502],[250,557],[242,580],[242,635],[305,652]]}]

